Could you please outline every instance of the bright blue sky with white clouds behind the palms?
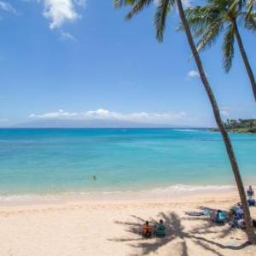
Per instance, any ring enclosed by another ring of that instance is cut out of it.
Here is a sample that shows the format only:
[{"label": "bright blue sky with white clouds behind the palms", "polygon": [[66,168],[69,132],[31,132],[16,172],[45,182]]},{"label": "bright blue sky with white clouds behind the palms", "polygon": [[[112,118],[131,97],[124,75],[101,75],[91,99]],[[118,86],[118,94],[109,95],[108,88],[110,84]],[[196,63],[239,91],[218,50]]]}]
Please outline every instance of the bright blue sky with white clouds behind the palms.
[{"label": "bright blue sky with white clouds behind the palms", "polygon": [[[153,9],[129,22],[124,15],[112,0],[1,0],[0,126],[50,118],[214,125],[177,11],[164,44]],[[256,73],[255,34],[241,36]],[[201,57],[224,119],[256,118],[239,51],[228,75],[221,40]]]}]

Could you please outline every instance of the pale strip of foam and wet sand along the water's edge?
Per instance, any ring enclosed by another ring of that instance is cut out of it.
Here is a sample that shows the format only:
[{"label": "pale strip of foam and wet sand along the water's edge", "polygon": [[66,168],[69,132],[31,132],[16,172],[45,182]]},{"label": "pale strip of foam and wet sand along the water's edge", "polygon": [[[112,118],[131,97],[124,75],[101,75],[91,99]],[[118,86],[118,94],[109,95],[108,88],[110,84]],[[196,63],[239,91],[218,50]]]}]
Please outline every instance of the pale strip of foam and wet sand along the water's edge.
[{"label": "pale strip of foam and wet sand along the water's edge", "polygon": [[78,201],[159,201],[186,199],[201,195],[236,194],[234,185],[171,185],[143,190],[68,192],[61,194],[0,195],[0,207],[9,205],[61,204]]}]

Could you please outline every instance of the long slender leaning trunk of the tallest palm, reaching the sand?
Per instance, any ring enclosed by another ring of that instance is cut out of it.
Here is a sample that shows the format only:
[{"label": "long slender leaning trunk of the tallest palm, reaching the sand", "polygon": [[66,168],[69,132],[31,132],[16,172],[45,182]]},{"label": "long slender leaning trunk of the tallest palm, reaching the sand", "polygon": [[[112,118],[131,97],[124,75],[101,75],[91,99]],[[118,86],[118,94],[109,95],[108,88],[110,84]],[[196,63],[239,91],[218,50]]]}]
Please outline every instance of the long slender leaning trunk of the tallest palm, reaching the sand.
[{"label": "long slender leaning trunk of the tallest palm, reaching the sand", "polygon": [[216,123],[218,125],[218,129],[221,132],[221,135],[224,139],[225,148],[226,148],[227,154],[229,156],[230,164],[232,166],[232,170],[233,170],[233,173],[234,173],[234,176],[235,176],[235,179],[236,179],[236,185],[237,185],[237,189],[238,189],[238,192],[239,192],[239,195],[240,195],[242,209],[245,213],[245,220],[246,220],[246,224],[247,224],[246,226],[247,226],[248,241],[251,242],[251,243],[256,243],[256,236],[255,236],[254,230],[253,230],[253,222],[252,222],[252,218],[251,218],[251,215],[250,215],[250,210],[249,210],[248,205],[247,205],[247,196],[246,196],[246,193],[245,193],[245,190],[244,190],[244,187],[243,187],[243,183],[242,183],[242,180],[241,180],[239,167],[238,167],[238,164],[236,162],[236,155],[234,153],[232,143],[230,141],[229,134],[224,128],[224,123],[223,123],[223,121],[221,119],[221,116],[220,116],[220,113],[219,113],[218,104],[216,102],[215,96],[213,95],[212,88],[211,88],[211,86],[210,86],[210,84],[207,80],[207,76],[206,76],[206,73],[205,73],[204,68],[202,66],[200,55],[198,54],[198,51],[195,47],[195,43],[194,43],[190,28],[189,28],[188,21],[186,20],[185,15],[184,15],[183,4],[182,4],[181,0],[177,0],[177,9],[178,9],[178,12],[179,12],[179,15],[180,15],[180,19],[182,20],[183,27],[184,27],[185,32],[186,32],[186,35],[187,35],[187,38],[188,38],[188,41],[189,41],[189,46],[192,50],[192,53],[193,53],[193,56],[194,56],[194,59],[195,59],[195,63],[197,65],[198,71],[200,73],[202,84],[204,85],[204,88],[207,91],[207,96],[208,96],[208,98],[211,102],[212,111],[214,113],[214,117],[215,117]]}]

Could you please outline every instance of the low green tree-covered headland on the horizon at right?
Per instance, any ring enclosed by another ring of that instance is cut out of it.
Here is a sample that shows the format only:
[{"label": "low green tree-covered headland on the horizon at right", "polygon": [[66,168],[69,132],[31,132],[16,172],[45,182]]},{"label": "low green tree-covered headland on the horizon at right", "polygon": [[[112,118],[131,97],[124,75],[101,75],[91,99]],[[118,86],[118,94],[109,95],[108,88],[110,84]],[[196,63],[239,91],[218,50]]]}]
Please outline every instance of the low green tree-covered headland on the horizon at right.
[{"label": "low green tree-covered headland on the horizon at right", "polygon": [[[229,132],[256,133],[256,119],[227,119],[224,125]],[[218,129],[212,128],[210,131],[218,131]]]}]

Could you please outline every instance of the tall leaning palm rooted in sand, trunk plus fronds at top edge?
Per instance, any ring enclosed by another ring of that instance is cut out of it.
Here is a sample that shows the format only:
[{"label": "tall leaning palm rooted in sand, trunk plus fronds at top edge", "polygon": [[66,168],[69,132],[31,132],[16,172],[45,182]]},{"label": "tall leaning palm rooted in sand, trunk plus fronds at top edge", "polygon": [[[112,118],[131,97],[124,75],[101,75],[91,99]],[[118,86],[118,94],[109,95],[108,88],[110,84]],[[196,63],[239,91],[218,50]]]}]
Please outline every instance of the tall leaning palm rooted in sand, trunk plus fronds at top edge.
[{"label": "tall leaning palm rooted in sand, trunk plus fronds at top edge", "polygon": [[[126,20],[130,20],[134,15],[137,15],[140,11],[142,11],[145,7],[148,7],[151,3],[155,4],[155,0],[114,0],[114,5],[116,8],[121,8],[125,6],[131,6],[131,11],[126,15]],[[232,143],[230,141],[229,134],[224,128],[224,123],[221,119],[220,112],[218,109],[218,104],[216,102],[215,96],[213,95],[212,88],[207,80],[206,73],[204,71],[200,55],[196,49],[195,42],[192,38],[192,33],[189,28],[189,23],[186,20],[186,16],[183,10],[183,3],[182,0],[158,0],[158,3],[156,5],[156,12],[154,15],[154,26],[156,29],[156,38],[161,42],[163,41],[163,34],[166,27],[166,18],[167,15],[170,13],[172,8],[175,6],[175,3],[177,3],[177,9],[180,15],[180,19],[183,24],[183,28],[186,32],[187,39],[189,41],[189,46],[192,50],[195,63],[197,65],[198,71],[201,76],[202,84],[207,91],[207,96],[209,98],[209,101],[212,105],[212,111],[214,113],[214,117],[216,120],[216,123],[218,124],[218,129],[221,132],[221,135],[224,139],[224,145],[227,151],[227,154],[230,159],[230,164],[232,166],[232,170],[236,179],[236,185],[237,189],[239,191],[240,199],[242,208],[245,213],[246,223],[247,223],[247,237],[248,241],[251,243],[256,242],[256,236],[254,234],[253,230],[253,222],[252,218],[250,216],[250,211],[247,206],[247,196],[243,187],[239,166],[236,162],[236,155],[234,153]]]}]

